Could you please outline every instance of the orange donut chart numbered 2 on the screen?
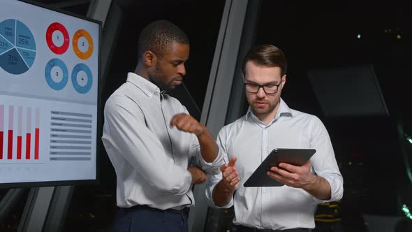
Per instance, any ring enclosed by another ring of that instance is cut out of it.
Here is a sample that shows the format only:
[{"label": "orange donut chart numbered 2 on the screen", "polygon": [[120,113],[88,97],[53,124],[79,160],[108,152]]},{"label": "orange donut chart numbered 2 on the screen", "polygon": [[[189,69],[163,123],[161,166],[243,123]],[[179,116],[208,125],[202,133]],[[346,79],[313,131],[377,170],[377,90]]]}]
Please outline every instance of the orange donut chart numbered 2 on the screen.
[{"label": "orange donut chart numbered 2 on the screen", "polygon": [[93,54],[93,38],[91,38],[89,32],[83,29],[75,32],[73,35],[72,45],[75,55],[77,55],[80,59],[89,59],[91,54]]}]

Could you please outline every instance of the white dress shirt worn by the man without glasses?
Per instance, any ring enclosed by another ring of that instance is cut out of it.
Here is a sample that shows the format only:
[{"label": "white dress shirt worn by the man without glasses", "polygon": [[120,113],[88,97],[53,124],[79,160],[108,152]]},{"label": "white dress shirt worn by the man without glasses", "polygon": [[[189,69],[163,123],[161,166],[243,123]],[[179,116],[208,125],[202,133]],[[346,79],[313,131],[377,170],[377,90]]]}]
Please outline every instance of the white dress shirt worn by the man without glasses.
[{"label": "white dress shirt worn by the man without glasses", "polygon": [[177,99],[149,80],[128,73],[105,103],[103,144],[117,176],[117,205],[165,210],[193,205],[189,165],[219,173],[219,159],[207,163],[193,133],[170,129],[172,117],[188,113]]}]

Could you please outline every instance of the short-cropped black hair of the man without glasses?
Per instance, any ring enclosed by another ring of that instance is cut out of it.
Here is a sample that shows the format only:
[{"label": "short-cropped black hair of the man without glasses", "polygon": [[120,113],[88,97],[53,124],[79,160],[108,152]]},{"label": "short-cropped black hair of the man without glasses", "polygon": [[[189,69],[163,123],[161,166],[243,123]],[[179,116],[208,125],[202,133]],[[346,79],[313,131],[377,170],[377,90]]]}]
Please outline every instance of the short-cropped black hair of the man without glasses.
[{"label": "short-cropped black hair of the man without glasses", "polygon": [[156,56],[162,57],[170,49],[173,42],[189,44],[186,34],[172,22],[158,20],[148,24],[140,32],[138,43],[138,59],[150,50]]}]

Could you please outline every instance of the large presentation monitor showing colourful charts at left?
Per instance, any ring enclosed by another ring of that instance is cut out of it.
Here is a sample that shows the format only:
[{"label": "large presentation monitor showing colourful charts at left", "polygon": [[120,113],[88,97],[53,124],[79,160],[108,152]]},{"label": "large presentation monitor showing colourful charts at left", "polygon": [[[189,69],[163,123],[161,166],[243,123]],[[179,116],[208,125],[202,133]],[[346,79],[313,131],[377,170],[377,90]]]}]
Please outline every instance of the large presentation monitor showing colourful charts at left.
[{"label": "large presentation monitor showing colourful charts at left", "polygon": [[97,182],[101,22],[1,0],[0,187]]}]

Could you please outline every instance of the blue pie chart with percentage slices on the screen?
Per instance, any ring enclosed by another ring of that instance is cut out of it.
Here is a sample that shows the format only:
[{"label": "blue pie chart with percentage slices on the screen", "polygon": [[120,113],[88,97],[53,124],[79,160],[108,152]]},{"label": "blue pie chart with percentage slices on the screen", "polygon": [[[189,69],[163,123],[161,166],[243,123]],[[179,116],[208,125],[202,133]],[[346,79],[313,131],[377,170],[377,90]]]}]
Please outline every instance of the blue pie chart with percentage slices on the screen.
[{"label": "blue pie chart with percentage slices on the screen", "polygon": [[30,29],[19,20],[0,22],[0,67],[19,75],[31,68],[36,58],[36,42]]}]

